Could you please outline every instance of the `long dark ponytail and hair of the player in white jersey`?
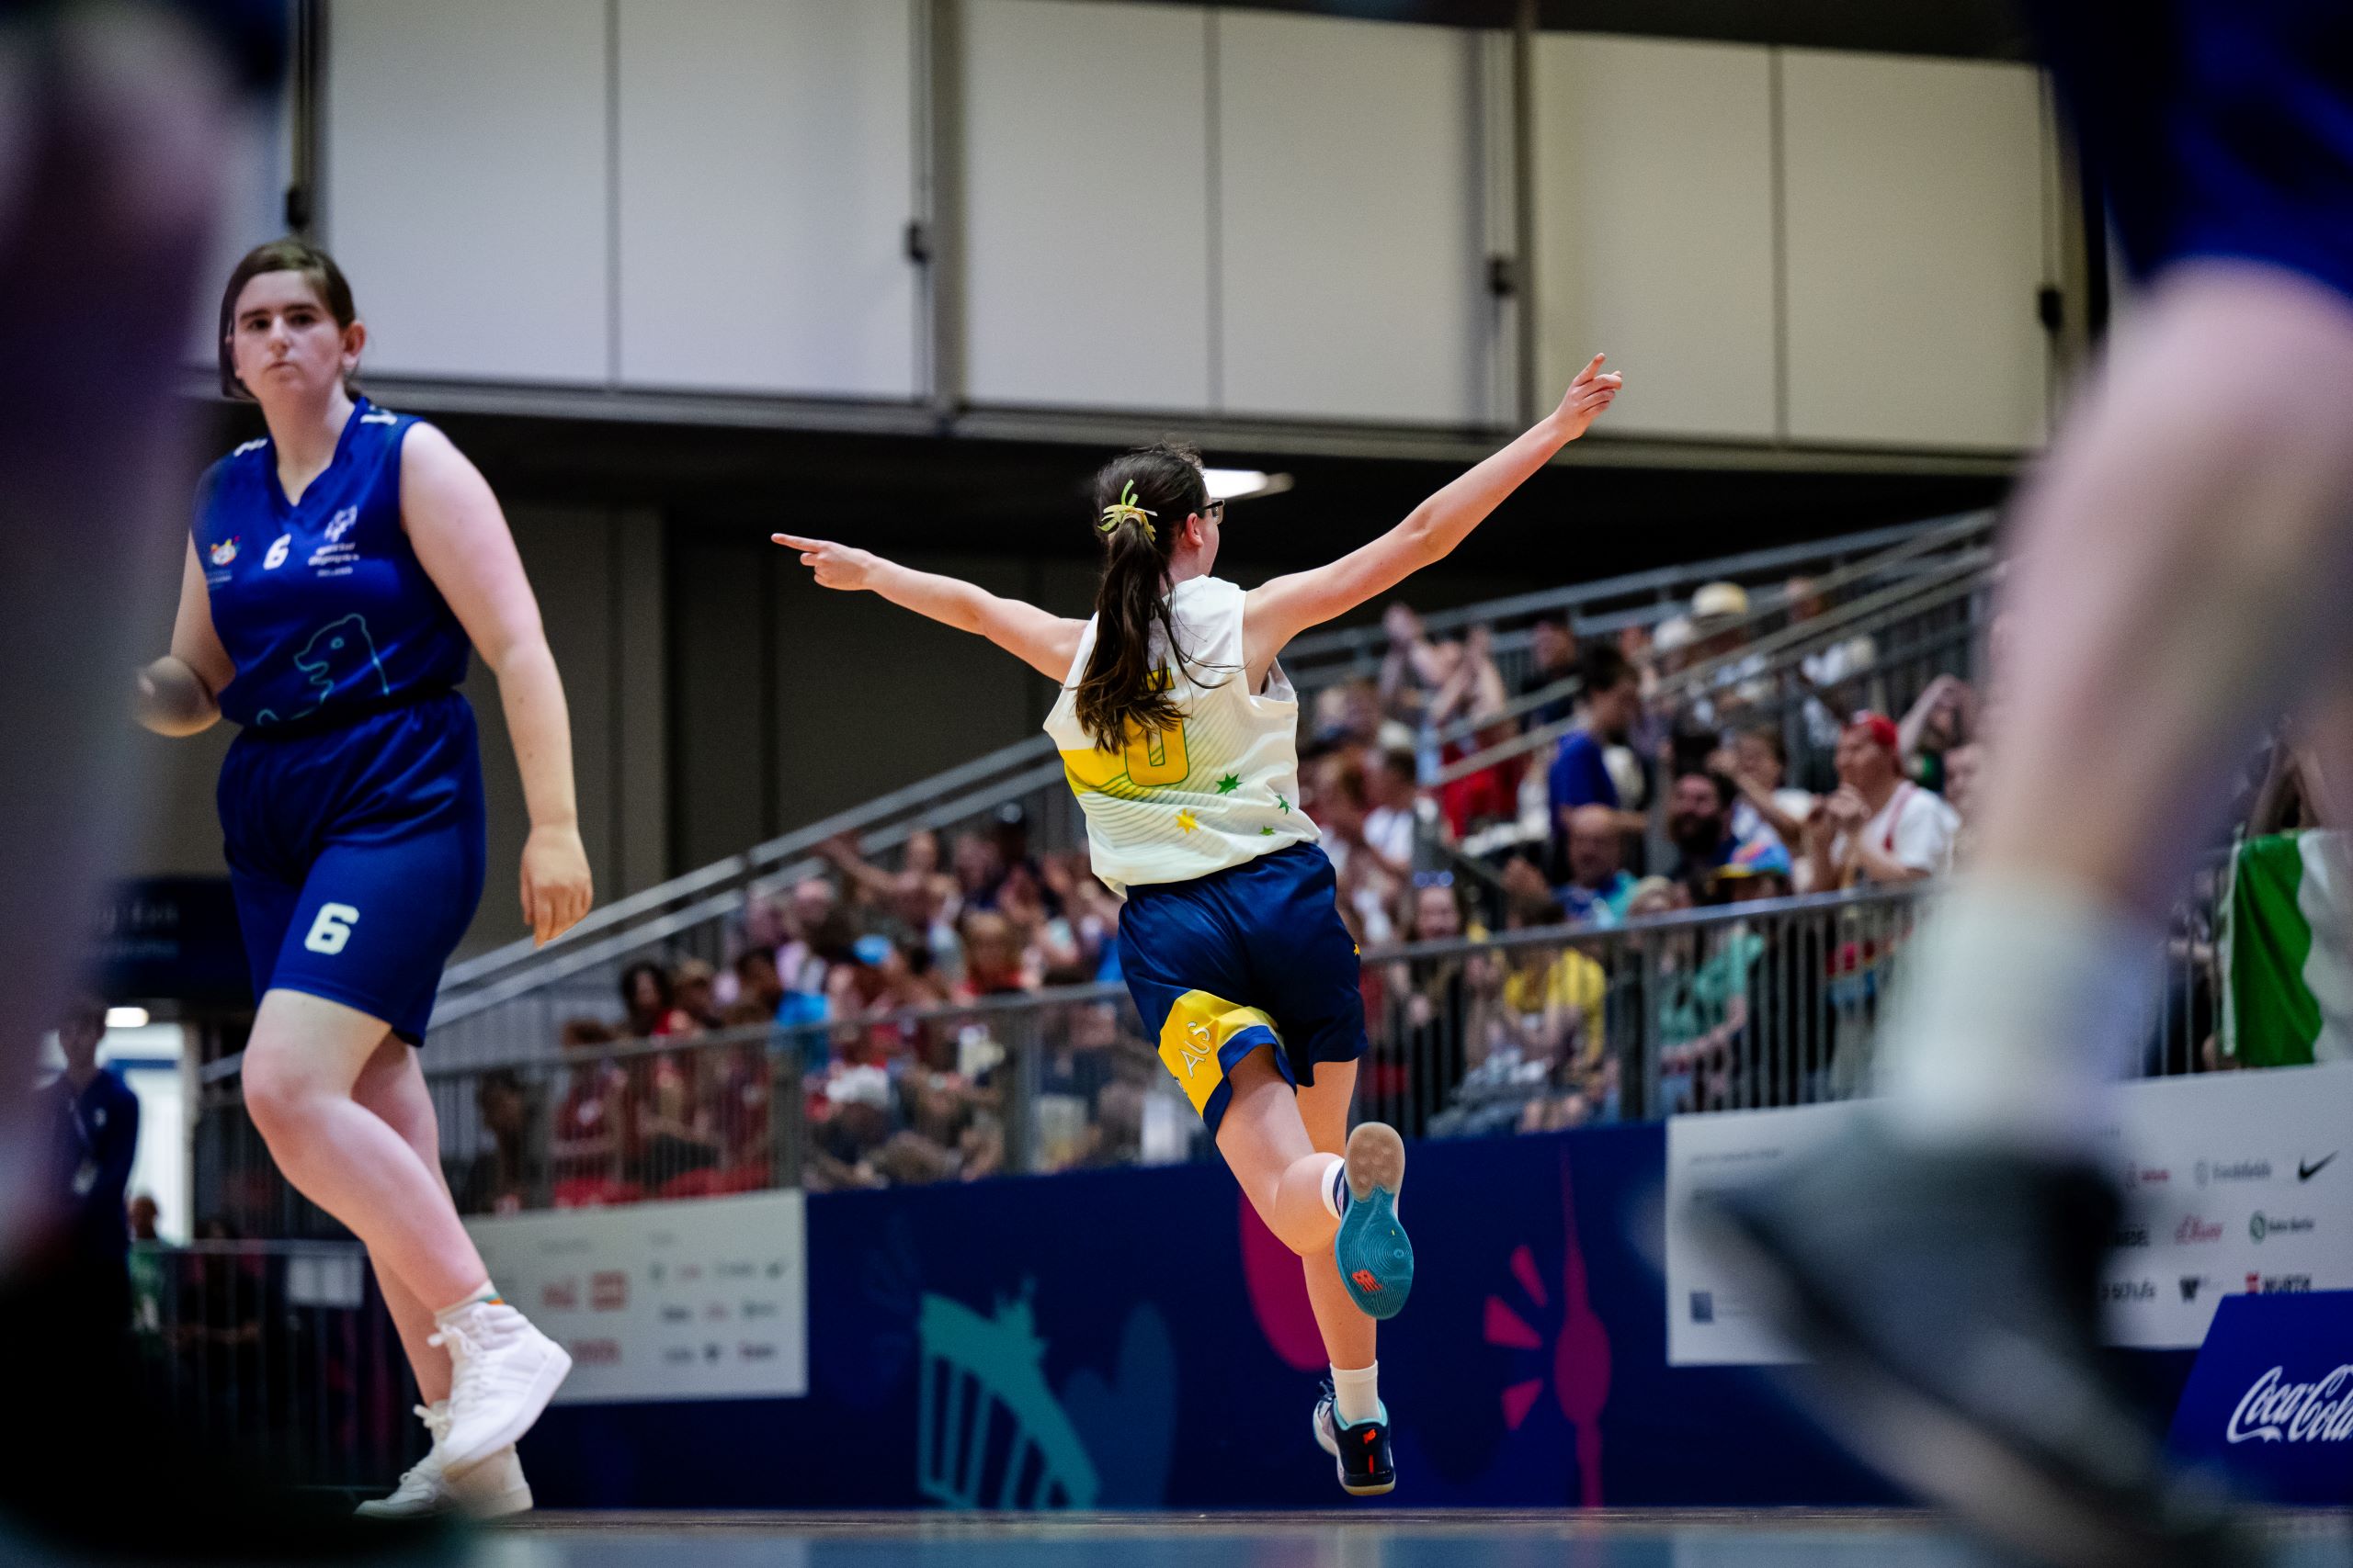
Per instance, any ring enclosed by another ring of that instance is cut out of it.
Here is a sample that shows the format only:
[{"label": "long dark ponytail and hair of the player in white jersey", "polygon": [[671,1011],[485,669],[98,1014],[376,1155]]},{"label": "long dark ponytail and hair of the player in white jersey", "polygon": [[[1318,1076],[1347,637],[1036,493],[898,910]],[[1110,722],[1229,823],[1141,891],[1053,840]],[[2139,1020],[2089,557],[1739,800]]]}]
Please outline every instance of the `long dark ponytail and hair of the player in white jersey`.
[{"label": "long dark ponytail and hair of the player in white jersey", "polygon": [[[1129,487],[1134,487],[1129,496]],[[1151,517],[1122,517],[1106,529],[1106,510],[1122,496]],[[1209,510],[1200,454],[1174,442],[1136,447],[1094,475],[1094,524],[1104,536],[1104,581],[1094,590],[1094,651],[1078,682],[1078,726],[1106,752],[1141,733],[1176,729],[1184,715],[1153,661],[1153,628],[1169,656],[1191,665],[1169,616],[1169,552],[1186,517]]]}]

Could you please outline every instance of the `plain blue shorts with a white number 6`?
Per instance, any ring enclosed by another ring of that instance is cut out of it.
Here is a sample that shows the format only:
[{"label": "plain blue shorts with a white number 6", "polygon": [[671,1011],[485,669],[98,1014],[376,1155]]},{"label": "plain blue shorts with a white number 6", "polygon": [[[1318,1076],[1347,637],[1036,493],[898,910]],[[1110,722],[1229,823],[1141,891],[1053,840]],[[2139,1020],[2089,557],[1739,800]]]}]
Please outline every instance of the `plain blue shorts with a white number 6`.
[{"label": "plain blue shorts with a white number 6", "polygon": [[247,729],[221,764],[228,882],[254,1001],[296,990],[424,1044],[482,903],[482,755],[466,698],[322,731]]}]

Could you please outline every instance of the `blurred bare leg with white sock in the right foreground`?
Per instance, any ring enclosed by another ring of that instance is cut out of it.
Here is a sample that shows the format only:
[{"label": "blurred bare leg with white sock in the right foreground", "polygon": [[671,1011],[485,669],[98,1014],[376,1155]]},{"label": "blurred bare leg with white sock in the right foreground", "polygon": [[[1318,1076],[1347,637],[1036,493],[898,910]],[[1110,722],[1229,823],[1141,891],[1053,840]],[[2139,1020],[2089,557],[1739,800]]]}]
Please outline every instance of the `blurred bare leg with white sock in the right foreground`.
[{"label": "blurred bare leg with white sock in the right foreground", "polygon": [[2353,303],[2184,266],[2024,498],[1979,865],[1889,1030],[1915,1131],[2073,1147],[2097,1117],[2235,743],[2341,649],[2348,409]]}]

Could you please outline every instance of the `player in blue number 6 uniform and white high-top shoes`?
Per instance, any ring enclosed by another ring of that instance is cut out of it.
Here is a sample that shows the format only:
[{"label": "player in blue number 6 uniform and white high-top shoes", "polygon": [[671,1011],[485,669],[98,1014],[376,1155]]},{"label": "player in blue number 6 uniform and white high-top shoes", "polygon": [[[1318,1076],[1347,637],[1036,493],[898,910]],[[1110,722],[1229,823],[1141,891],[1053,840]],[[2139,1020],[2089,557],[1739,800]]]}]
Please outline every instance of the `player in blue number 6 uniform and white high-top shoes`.
[{"label": "player in blue number 6 uniform and white high-top shoes", "polygon": [[435,1436],[374,1509],[513,1512],[515,1439],[572,1361],[485,1279],[409,1051],[482,896],[468,649],[515,738],[541,943],[588,912],[588,856],[562,682],[499,503],[440,430],[351,393],[365,343],[325,252],[282,240],[238,263],[221,386],[268,437],[205,475],[139,717],[242,726],[219,806],[259,997],[245,1105],[287,1180],[367,1244]]}]

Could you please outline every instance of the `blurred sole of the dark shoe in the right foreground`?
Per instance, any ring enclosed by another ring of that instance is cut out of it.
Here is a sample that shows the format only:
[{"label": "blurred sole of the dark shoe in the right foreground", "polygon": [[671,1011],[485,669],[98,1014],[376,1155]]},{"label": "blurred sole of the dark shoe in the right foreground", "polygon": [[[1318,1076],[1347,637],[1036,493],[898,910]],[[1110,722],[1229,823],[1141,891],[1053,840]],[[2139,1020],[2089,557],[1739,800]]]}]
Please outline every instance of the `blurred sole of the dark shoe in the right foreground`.
[{"label": "blurred sole of the dark shoe in the right foreground", "polygon": [[1699,1206],[1694,1220],[1701,1241],[1729,1265],[1765,1319],[1812,1359],[1812,1378],[1784,1373],[1784,1387],[1864,1462],[2035,1563],[2162,1568],[2209,1561],[2174,1554],[2174,1542],[2052,1476],[2040,1455],[1889,1371],[1859,1335],[1802,1305],[1781,1260],[1737,1218]]}]

